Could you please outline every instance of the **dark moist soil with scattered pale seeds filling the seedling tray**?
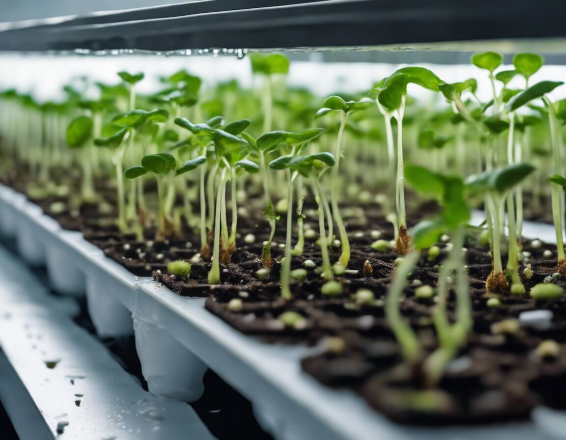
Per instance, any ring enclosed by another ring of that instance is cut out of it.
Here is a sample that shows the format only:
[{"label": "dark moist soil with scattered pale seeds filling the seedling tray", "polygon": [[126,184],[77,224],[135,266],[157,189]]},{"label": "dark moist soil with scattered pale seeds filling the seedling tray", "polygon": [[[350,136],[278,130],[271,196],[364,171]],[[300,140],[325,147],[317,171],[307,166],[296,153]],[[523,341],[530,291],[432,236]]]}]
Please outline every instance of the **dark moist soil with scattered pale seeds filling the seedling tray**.
[{"label": "dark moist soil with scattered pale seeds filling the seedling tray", "polygon": [[[25,188],[20,179],[5,179],[3,183],[19,191]],[[105,200],[112,200],[113,188],[101,186],[100,192]],[[279,284],[285,241],[283,222],[278,224],[273,239],[275,264],[271,273],[263,279],[255,276],[262,268],[261,248],[269,232],[261,214],[261,200],[240,204],[246,209],[238,212],[237,248],[230,261],[221,265],[221,283],[215,286],[207,283],[211,264],[200,257],[198,230],[184,227],[177,236],[156,241],[148,228],[140,239],[140,234],[122,235],[112,222],[115,213],[101,202],[71,208],[73,202],[64,195],[34,201],[62,227],[83,231],[87,240],[132,274],[153,276],[156,283],[182,296],[207,297],[206,308],[242,333],[267,342],[317,346],[318,354],[302,361],[305,372],[329,387],[357,392],[391,420],[417,425],[486,424],[525,419],[538,404],[566,408],[562,392],[566,389],[566,300],[537,301],[527,294],[487,292],[485,281],[491,271],[491,258],[488,248],[479,244],[474,235],[469,235],[465,244],[473,331],[438,385],[430,387],[424,381],[422,360],[414,365],[403,361],[385,319],[384,298],[398,255],[371,247],[377,239],[394,239],[384,206],[368,203],[342,207],[351,245],[348,270],[336,277],[342,294],[321,294],[324,280],[316,269],[321,265],[320,248],[311,238],[305,240],[304,252],[291,261],[291,269],[306,269],[307,275],[291,284],[293,298],[285,301],[280,297]],[[436,209],[434,202],[423,204],[410,197],[408,201],[409,226],[430,217]],[[67,209],[51,212],[55,202]],[[307,235],[318,237],[314,201],[307,201],[303,214],[305,230],[316,232]],[[295,231],[294,243],[296,236]],[[438,246],[440,255],[433,260],[426,252],[421,253],[399,305],[402,316],[417,332],[423,359],[437,348],[432,322],[436,297],[419,298],[415,290],[422,284],[436,286],[438,265],[451,243],[445,240]],[[522,277],[526,291],[541,282],[566,287],[566,280],[555,274],[556,247],[525,241],[522,251],[520,274],[528,263],[533,270],[529,279]],[[340,248],[331,246],[330,256],[332,262],[337,261]],[[168,262],[178,259],[191,260],[190,277],[178,278],[167,272]],[[359,304],[354,294],[361,288],[370,290],[374,299]],[[498,307],[488,307],[491,298],[499,299]],[[455,305],[451,292],[447,304],[450,318]],[[526,316],[537,310],[548,310],[550,318],[530,322]],[[278,319],[284,312],[296,312],[302,319],[285,325]],[[547,340],[556,342],[558,350],[543,352],[540,346]]]}]

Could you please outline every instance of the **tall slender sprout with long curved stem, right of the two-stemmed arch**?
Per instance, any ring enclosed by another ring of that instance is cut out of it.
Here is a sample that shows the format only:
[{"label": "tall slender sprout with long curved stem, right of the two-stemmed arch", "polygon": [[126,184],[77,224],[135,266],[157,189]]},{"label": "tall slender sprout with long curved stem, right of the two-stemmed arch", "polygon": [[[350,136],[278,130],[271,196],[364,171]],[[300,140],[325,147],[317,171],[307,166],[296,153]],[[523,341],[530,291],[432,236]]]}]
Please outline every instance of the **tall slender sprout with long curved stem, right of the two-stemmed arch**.
[{"label": "tall slender sprout with long curved stem, right of the two-stemmed arch", "polygon": [[[338,184],[340,183],[340,157],[342,156],[342,135],[348,120],[348,115],[359,110],[366,110],[370,107],[370,101],[344,101],[340,96],[330,96],[324,100],[323,108],[316,112],[315,117],[319,118],[327,113],[336,111],[340,113],[340,128],[338,128],[338,139],[336,140],[336,148],[334,150],[334,157],[336,158],[336,165],[331,170],[331,186],[330,186],[330,200],[332,204],[332,214],[340,231],[340,243],[342,245],[342,254],[338,262],[344,268],[348,267],[350,261],[350,241],[346,233],[346,227],[338,208]],[[332,239],[332,238],[331,238]]]}]

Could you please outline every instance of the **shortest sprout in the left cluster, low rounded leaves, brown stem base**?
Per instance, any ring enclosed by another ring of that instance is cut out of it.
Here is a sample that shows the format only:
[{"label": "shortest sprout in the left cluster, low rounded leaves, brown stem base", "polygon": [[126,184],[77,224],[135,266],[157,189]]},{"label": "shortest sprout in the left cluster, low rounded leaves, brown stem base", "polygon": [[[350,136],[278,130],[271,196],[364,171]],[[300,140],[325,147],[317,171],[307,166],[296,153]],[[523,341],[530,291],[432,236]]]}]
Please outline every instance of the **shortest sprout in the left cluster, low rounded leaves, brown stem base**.
[{"label": "shortest sprout in the left cluster, low rounded leaves, brown stem base", "polygon": [[137,179],[148,172],[155,174],[157,179],[157,231],[155,234],[156,240],[165,240],[169,235],[168,213],[165,210],[165,184],[166,179],[169,179],[169,184],[174,176],[173,171],[177,168],[177,160],[169,153],[148,154],[141,159],[141,165],[135,165],[124,171],[126,179]]}]

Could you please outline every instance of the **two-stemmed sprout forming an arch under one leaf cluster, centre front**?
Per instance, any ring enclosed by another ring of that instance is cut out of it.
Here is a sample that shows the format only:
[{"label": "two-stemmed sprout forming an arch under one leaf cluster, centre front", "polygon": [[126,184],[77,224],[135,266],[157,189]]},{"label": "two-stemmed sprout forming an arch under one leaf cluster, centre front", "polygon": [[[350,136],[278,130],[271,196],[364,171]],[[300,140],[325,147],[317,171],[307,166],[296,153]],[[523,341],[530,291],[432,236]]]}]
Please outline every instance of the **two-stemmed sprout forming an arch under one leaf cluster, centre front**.
[{"label": "two-stemmed sprout forming an arch under one leaf cluster, centre front", "polygon": [[[318,135],[320,135],[321,132],[322,131],[320,130],[318,132]],[[318,178],[322,166],[326,165],[328,167],[333,167],[335,166],[335,163],[336,161],[334,156],[331,153],[326,152],[308,154],[307,156],[290,154],[289,156],[281,156],[269,163],[269,167],[274,170],[286,170],[287,175],[289,201],[287,211],[287,231],[285,239],[285,260],[281,268],[281,296],[284,297],[284,299],[290,299],[291,297],[291,222],[293,219],[293,175],[291,175],[291,171],[293,171],[295,175],[297,175],[298,173],[311,180],[312,191],[314,192],[315,198],[318,201],[319,205],[318,210],[320,228],[320,251],[323,260],[323,277],[327,280],[327,283],[324,284],[324,286],[327,286],[328,283],[333,283],[332,265],[328,254],[326,231],[324,230],[324,209],[321,202],[322,189],[320,188]],[[328,284],[328,286],[330,286],[330,284]]]}]

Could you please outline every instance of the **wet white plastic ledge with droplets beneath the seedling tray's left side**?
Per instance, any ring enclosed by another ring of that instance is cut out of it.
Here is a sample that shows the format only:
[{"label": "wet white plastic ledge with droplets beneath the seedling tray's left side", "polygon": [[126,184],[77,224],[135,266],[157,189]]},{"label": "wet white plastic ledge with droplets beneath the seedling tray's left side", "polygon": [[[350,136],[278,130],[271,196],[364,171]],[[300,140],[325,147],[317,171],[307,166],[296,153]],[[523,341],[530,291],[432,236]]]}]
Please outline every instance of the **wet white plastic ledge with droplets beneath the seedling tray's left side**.
[{"label": "wet white plastic ledge with droplets beneath the seedling tray's left side", "polygon": [[0,278],[0,398],[20,438],[212,440],[189,405],[144,391],[1,246]]}]

